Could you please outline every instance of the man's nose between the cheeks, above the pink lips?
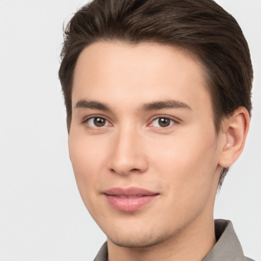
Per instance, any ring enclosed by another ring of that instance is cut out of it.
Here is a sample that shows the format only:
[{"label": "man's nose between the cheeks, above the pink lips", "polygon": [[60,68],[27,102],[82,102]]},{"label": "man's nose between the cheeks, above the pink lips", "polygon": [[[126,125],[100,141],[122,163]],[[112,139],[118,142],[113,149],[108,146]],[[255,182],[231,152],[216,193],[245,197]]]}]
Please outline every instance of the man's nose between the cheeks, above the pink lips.
[{"label": "man's nose between the cheeks, above the pink lips", "polygon": [[110,171],[128,175],[144,173],[148,169],[148,159],[141,136],[133,129],[119,131],[115,135],[108,165]]}]

